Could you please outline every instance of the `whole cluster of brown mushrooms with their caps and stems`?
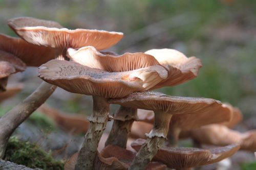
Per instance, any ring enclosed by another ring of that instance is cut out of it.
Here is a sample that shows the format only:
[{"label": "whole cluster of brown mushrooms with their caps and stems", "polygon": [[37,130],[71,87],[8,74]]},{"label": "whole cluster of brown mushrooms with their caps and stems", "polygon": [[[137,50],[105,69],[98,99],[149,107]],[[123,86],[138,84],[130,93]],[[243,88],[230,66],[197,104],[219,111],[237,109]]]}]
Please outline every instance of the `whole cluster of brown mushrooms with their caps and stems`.
[{"label": "whole cluster of brown mushrooms with their caps and stems", "polygon": [[[57,22],[31,17],[10,19],[8,25],[20,38],[0,34],[0,91],[6,90],[10,74],[24,71],[26,66],[39,67],[38,77],[44,82],[0,119],[0,158],[12,132],[49,98],[56,86],[91,95],[93,99],[93,112],[88,120],[61,116],[47,106],[40,108],[61,122],[61,128],[75,128],[74,133],[87,132],[82,148],[67,161],[66,170],[189,169],[227,158],[237,152],[240,145],[246,150],[256,148],[254,132],[232,131],[231,135],[238,138],[236,141],[211,136],[214,132],[216,136],[220,134],[221,128],[222,135],[231,133],[227,127],[236,124],[239,117],[239,111],[231,106],[214,99],[152,91],[196,78],[202,66],[196,57],[186,57],[167,48],[121,55],[102,52],[115,45],[123,34],[69,30]],[[110,104],[120,105],[114,116],[110,115]],[[112,119],[113,126],[104,146],[102,135]],[[132,143],[133,151],[126,149],[129,137],[145,136],[146,140],[137,139]],[[179,136],[223,147],[179,148]],[[101,151],[99,145],[102,145]]]}]

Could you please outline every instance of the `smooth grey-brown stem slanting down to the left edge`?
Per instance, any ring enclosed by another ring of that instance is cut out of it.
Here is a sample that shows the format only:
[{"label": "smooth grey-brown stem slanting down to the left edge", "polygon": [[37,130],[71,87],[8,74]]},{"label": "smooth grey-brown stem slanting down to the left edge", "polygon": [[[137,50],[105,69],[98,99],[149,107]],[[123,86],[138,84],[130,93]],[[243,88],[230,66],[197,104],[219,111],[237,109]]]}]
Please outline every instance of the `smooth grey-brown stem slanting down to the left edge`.
[{"label": "smooth grey-brown stem slanting down to the left edge", "polygon": [[8,139],[15,129],[40,107],[56,89],[55,85],[42,82],[24,101],[0,118],[0,158],[5,155]]}]

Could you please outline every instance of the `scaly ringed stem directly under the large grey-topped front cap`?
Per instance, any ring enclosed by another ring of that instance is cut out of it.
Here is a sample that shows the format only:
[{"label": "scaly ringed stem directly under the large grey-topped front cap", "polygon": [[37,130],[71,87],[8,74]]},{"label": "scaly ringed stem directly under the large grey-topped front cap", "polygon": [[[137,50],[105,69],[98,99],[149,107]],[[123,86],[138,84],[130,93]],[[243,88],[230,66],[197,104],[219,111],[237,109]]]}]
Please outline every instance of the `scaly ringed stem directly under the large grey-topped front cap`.
[{"label": "scaly ringed stem directly under the large grey-topped front cap", "polygon": [[109,119],[110,105],[108,100],[101,96],[93,96],[93,114],[90,118],[90,128],[79,151],[76,170],[93,169],[99,140]]}]

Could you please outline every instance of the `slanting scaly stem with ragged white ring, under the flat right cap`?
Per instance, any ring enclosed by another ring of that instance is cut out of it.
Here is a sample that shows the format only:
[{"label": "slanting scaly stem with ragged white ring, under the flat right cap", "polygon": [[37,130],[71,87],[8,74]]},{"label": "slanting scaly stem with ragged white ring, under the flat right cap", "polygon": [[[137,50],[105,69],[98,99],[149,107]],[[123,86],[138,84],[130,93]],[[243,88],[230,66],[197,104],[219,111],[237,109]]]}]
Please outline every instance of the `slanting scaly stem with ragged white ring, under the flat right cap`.
[{"label": "slanting scaly stem with ragged white ring, under the flat right cap", "polygon": [[170,118],[172,118],[172,114],[155,111],[154,128],[150,134],[146,134],[147,139],[133,159],[129,167],[130,170],[145,169],[148,163],[150,163],[152,158],[157,154],[157,151],[166,139]]}]

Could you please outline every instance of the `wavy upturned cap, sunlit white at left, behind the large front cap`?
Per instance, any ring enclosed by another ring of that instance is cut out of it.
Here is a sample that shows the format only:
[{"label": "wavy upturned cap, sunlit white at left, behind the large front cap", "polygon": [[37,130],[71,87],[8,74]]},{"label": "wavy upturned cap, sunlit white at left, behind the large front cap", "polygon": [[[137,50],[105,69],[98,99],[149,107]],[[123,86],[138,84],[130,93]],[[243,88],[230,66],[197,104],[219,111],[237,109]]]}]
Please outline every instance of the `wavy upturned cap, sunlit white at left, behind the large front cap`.
[{"label": "wavy upturned cap, sunlit white at left, behind the large front cap", "polygon": [[160,65],[151,55],[144,53],[125,53],[120,56],[100,53],[93,46],[84,46],[79,50],[69,48],[67,56],[71,61],[109,72],[131,71],[153,65]]}]

